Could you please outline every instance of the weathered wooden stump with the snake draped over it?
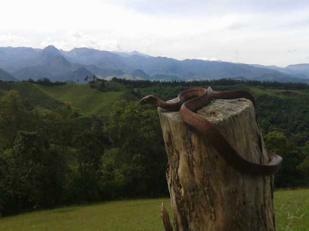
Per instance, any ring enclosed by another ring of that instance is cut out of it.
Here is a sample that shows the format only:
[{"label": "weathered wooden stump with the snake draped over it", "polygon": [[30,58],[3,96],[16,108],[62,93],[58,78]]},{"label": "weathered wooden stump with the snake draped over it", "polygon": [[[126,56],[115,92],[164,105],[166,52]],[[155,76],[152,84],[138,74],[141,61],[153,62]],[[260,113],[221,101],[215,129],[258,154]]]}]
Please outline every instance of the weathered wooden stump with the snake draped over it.
[{"label": "weathered wooden stump with the snake draped over it", "polygon": [[[174,99],[175,100],[175,99]],[[171,100],[171,101],[174,101]],[[175,231],[275,231],[273,177],[230,166],[207,140],[179,118],[158,108]],[[198,110],[244,158],[267,163],[252,103],[212,100]]]}]

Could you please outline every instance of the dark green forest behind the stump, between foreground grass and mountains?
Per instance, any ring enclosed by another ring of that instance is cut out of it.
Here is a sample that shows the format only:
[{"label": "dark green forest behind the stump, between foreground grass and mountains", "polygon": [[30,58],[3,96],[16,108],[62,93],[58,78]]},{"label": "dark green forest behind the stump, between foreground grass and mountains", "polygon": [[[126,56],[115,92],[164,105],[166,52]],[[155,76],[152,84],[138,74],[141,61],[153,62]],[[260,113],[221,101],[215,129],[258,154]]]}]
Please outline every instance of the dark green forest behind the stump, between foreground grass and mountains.
[{"label": "dark green forest behind the stump, between foreground grass and mountains", "polygon": [[104,116],[82,115],[70,101],[55,103],[42,113],[33,95],[25,97],[10,87],[14,83],[0,82],[0,216],[69,204],[167,196],[167,157],[156,107],[142,106],[138,99],[155,94],[167,100],[196,86],[249,90],[257,101],[268,149],[284,158],[275,176],[276,188],[309,186],[307,84],[235,79],[113,78],[111,82],[118,84],[117,89],[111,87],[115,84],[109,88],[101,84],[97,90],[126,94]]}]

